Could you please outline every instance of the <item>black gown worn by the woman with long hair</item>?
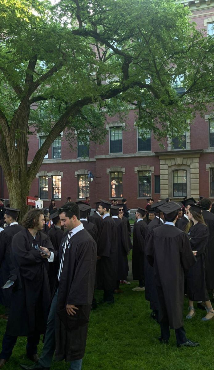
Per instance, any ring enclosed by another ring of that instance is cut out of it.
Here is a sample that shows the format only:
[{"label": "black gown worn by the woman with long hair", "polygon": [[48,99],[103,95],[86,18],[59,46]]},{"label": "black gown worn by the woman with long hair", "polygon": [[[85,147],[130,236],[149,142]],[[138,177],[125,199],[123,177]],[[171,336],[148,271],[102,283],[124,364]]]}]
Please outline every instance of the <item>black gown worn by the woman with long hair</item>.
[{"label": "black gown worn by the woman with long hair", "polygon": [[187,271],[187,296],[190,300],[203,302],[210,299],[205,279],[209,230],[203,223],[191,226],[188,237],[192,250],[197,250],[196,263]]}]

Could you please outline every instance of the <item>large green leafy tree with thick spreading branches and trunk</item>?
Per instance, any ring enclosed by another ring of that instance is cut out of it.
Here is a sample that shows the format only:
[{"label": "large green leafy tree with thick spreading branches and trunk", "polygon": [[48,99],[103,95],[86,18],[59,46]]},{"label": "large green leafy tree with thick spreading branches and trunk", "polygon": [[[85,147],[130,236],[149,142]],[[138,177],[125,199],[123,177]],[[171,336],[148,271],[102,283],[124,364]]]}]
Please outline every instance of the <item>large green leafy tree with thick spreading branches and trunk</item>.
[{"label": "large green leafy tree with thick spreading branches and trunk", "polygon": [[[65,128],[102,142],[106,114],[136,108],[136,125],[160,139],[206,110],[214,40],[189,15],[174,0],[0,0],[0,164],[13,206]],[[47,139],[28,167],[31,126]]]}]

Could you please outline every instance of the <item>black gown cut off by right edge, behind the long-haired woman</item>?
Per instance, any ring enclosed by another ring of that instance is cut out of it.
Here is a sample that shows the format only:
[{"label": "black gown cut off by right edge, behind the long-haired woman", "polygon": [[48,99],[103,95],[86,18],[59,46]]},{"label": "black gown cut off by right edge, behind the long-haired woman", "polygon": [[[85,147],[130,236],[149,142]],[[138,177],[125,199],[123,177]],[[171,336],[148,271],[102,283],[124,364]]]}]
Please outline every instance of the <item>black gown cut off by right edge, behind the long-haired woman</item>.
[{"label": "black gown cut off by right edge, behind the long-haired woman", "polygon": [[214,214],[203,211],[202,216],[209,229],[207,261],[206,261],[206,285],[207,289],[214,289]]}]

